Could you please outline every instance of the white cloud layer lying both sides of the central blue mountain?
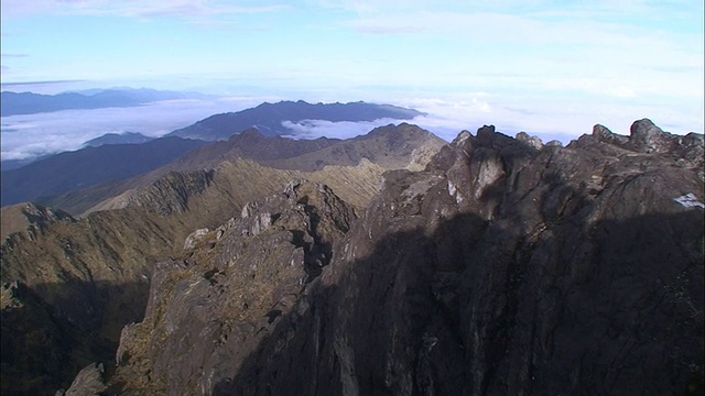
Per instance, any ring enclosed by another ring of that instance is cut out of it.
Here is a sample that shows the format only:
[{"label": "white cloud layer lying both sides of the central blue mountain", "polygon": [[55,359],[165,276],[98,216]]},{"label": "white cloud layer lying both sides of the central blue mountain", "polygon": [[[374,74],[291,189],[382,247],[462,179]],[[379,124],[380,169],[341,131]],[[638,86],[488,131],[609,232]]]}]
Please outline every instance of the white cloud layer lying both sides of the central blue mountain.
[{"label": "white cloud layer lying both sides of the central blue mountain", "polygon": [[[219,100],[174,100],[134,108],[68,110],[52,113],[12,116],[2,118],[2,160],[25,160],[62,151],[77,150],[94,138],[109,132],[140,132],[161,136],[187,127],[206,117],[254,107],[273,97],[226,97]],[[316,101],[311,100],[308,101]],[[330,122],[323,120],[284,121],[291,138],[349,139],[372,129],[406,121],[426,129],[440,138],[452,141],[467,130],[475,133],[485,124],[492,124],[510,136],[519,131],[540,136],[544,142],[558,140],[567,144],[600,123],[619,134],[629,134],[636,120],[650,118],[665,131],[685,134],[703,133],[703,120],[688,116],[687,109],[674,111],[658,105],[620,106],[610,102],[566,101],[551,98],[523,98],[471,92],[448,97],[398,97],[384,102],[414,108],[425,117],[411,120],[381,119],[371,122]]]}]

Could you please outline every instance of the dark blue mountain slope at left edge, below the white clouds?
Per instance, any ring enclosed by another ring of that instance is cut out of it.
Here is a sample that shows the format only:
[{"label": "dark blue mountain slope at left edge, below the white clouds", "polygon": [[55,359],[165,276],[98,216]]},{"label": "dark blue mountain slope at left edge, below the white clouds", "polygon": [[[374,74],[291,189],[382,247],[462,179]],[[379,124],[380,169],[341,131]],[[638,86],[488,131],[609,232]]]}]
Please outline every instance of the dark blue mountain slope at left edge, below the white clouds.
[{"label": "dark blue mountain slope at left edge, below the white clouds", "polygon": [[108,144],[56,154],[2,173],[2,206],[126,179],[207,144],[176,136],[142,144]]}]

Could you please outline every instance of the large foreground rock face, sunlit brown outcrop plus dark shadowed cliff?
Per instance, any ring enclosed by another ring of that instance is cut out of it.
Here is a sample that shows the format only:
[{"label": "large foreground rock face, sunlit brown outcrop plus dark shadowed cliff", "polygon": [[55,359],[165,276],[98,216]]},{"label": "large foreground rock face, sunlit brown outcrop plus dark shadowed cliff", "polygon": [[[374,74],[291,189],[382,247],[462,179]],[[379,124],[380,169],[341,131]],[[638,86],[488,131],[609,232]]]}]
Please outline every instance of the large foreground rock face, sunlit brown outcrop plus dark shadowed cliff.
[{"label": "large foreground rock face, sunlit brown outcrop plus dark shadowed cliff", "polygon": [[702,394],[702,135],[648,120],[566,147],[484,127],[423,172],[384,174],[356,221],[327,188],[293,184],[158,265],[109,384]]}]

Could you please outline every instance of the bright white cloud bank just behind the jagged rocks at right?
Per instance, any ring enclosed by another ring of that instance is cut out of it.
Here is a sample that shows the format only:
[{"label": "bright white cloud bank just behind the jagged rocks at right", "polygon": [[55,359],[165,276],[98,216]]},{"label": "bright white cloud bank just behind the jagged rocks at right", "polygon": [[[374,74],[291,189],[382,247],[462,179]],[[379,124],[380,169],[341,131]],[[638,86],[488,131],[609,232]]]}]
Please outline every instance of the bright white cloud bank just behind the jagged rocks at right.
[{"label": "bright white cloud bank just behind the jagged rocks at right", "polygon": [[414,119],[413,123],[446,141],[453,140],[462,130],[475,133],[486,124],[492,124],[499,132],[510,136],[524,131],[540,136],[543,142],[557,140],[564,144],[592,133],[596,123],[606,125],[612,132],[629,134],[631,123],[642,118],[650,118],[664,130],[676,134],[692,131],[702,133],[704,128],[702,118],[693,116],[696,112],[688,109],[672,110],[659,103],[631,101],[616,106],[612,100],[565,100],[541,96],[520,98],[476,92],[445,98],[405,98],[395,105],[429,113],[427,117]]}]

